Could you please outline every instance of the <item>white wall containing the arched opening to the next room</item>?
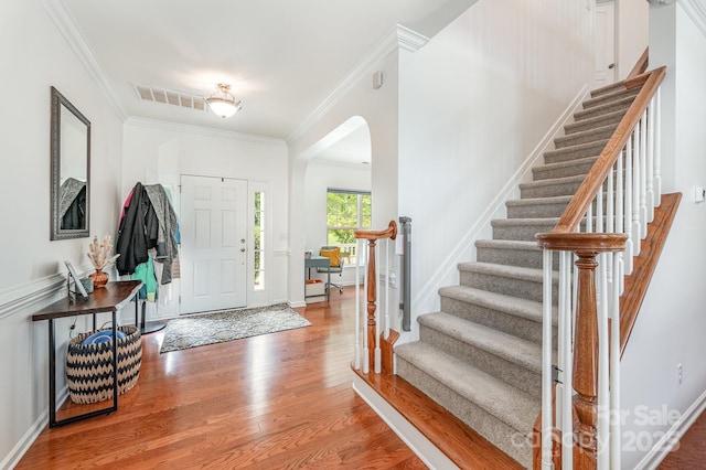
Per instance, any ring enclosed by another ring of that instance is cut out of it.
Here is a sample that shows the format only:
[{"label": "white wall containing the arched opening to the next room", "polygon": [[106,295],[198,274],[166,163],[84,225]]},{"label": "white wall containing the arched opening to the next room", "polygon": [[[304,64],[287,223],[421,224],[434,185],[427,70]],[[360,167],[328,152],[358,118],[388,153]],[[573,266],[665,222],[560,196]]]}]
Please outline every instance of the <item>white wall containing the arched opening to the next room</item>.
[{"label": "white wall containing the arched opening to the next room", "polygon": [[[309,121],[288,139],[290,259],[289,300],[303,305],[306,228],[306,172],[309,161],[320,150],[318,143],[351,117],[367,122],[371,132],[373,228],[387,227],[397,220],[397,31],[381,41],[376,51],[346,77]],[[372,86],[375,71],[385,77],[379,89]]]}]

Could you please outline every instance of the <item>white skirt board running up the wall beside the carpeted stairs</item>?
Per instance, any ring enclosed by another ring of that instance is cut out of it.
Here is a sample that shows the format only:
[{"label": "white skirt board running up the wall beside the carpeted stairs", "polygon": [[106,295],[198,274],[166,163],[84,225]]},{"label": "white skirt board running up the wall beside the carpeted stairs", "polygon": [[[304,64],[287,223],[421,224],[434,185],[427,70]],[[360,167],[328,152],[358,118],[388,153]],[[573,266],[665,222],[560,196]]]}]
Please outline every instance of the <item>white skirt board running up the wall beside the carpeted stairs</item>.
[{"label": "white skirt board running up the wall beside the carpeted stairs", "polygon": [[475,260],[475,241],[491,237],[491,221],[506,216],[505,201],[520,197],[520,183],[532,180],[532,168],[542,161],[547,150],[554,148],[554,139],[564,136],[565,126],[574,122],[574,115],[581,109],[584,100],[588,97],[590,97],[590,86],[587,83],[530,152],[507,183],[499,191],[483,214],[469,227],[468,232],[459,237],[459,243],[439,264],[439,268],[428,277],[421,289],[415,292],[411,299],[414,309],[410,319],[411,331],[405,332],[400,328],[400,338],[396,344],[399,345],[419,339],[417,316],[420,312],[439,310],[439,288],[458,284],[459,273],[457,265],[462,261]]}]

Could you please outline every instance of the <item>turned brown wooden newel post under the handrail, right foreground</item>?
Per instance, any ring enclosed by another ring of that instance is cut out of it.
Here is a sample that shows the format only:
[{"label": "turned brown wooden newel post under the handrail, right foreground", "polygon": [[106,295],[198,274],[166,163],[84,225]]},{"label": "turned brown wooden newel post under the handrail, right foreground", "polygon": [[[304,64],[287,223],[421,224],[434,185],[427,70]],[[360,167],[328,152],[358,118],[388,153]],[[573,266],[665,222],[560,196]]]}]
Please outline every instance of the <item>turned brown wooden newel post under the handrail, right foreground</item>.
[{"label": "turned brown wooden newel post under the handrail, right foreground", "polygon": [[574,333],[574,463],[578,469],[597,466],[598,421],[598,309],[596,306],[595,250],[577,250],[576,331]]}]

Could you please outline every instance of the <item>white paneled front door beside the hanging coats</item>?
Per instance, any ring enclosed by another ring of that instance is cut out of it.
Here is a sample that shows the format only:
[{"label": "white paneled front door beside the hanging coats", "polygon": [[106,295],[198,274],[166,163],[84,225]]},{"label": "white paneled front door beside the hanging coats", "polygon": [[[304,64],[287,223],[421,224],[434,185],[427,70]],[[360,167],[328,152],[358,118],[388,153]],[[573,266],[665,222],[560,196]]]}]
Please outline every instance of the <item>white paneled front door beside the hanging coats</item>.
[{"label": "white paneled front door beside the hanging coats", "polygon": [[247,181],[181,177],[180,313],[247,305]]}]

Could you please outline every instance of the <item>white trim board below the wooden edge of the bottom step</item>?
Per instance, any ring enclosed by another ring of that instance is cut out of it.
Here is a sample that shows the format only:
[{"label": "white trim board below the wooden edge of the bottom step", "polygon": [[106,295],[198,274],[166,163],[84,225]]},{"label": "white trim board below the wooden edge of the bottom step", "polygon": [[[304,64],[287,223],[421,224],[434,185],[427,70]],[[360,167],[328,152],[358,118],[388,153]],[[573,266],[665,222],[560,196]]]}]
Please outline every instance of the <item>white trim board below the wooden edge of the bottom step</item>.
[{"label": "white trim board below the wooden edge of the bottom step", "polygon": [[360,376],[353,374],[353,389],[430,469],[458,469],[449,458],[407,421]]}]

